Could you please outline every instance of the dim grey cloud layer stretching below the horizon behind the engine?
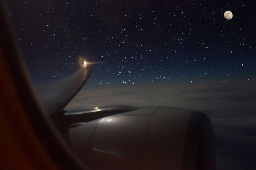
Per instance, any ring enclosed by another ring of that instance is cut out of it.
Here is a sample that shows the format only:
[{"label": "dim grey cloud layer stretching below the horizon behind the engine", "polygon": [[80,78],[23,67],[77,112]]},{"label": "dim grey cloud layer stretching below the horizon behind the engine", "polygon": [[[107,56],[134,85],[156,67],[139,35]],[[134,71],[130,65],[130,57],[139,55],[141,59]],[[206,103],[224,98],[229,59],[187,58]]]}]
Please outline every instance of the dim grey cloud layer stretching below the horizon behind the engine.
[{"label": "dim grey cloud layer stretching below the horizon behind the engine", "polygon": [[256,168],[256,84],[183,84],[84,88],[68,110],[102,106],[173,106],[210,116],[217,169]]}]

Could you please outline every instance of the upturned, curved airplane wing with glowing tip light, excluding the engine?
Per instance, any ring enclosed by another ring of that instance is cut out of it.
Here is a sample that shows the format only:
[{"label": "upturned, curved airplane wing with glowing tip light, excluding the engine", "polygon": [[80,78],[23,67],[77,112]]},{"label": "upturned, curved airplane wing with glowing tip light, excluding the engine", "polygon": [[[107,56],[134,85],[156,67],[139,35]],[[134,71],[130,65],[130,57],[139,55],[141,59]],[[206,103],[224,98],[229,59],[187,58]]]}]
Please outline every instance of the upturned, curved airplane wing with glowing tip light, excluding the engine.
[{"label": "upturned, curved airplane wing with glowing tip light, excluding the engine", "polygon": [[38,89],[38,96],[49,113],[55,117],[84,86],[92,72],[93,64],[87,64],[73,74]]}]

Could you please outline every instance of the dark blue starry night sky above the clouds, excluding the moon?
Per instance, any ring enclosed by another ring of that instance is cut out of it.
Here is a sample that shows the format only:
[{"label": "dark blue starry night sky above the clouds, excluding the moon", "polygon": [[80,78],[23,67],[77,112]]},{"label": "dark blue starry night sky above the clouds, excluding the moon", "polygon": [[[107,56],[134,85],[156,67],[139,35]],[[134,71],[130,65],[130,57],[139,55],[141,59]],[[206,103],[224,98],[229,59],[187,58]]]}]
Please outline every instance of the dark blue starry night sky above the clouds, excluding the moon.
[{"label": "dark blue starry night sky above the clouds, excluding the moon", "polygon": [[36,85],[78,70],[78,56],[99,62],[89,87],[232,83],[256,81],[252,3],[10,0],[8,12]]}]

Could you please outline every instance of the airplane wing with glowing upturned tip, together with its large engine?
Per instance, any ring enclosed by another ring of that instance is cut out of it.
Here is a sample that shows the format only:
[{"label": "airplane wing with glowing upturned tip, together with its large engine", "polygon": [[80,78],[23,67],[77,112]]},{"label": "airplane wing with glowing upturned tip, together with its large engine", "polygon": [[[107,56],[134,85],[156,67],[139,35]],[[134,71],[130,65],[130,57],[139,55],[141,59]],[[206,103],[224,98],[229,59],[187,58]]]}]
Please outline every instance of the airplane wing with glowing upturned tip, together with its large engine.
[{"label": "airplane wing with glowing upturned tip, together with its large engine", "polygon": [[214,134],[205,114],[129,106],[64,111],[92,67],[38,91],[59,132],[88,168],[215,170]]}]

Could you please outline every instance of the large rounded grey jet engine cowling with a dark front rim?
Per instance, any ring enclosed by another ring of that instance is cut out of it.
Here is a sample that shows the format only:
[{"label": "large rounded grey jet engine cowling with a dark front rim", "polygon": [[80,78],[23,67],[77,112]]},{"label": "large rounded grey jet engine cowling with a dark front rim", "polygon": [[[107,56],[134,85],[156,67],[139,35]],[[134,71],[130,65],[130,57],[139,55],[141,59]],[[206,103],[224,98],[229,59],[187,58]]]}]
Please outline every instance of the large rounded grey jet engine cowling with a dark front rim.
[{"label": "large rounded grey jet engine cowling with a dark front rim", "polygon": [[74,152],[92,170],[214,170],[215,146],[205,114],[143,107],[69,126]]}]

